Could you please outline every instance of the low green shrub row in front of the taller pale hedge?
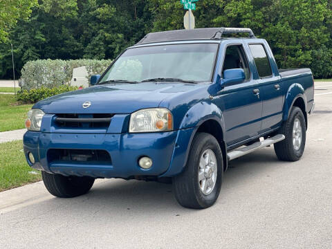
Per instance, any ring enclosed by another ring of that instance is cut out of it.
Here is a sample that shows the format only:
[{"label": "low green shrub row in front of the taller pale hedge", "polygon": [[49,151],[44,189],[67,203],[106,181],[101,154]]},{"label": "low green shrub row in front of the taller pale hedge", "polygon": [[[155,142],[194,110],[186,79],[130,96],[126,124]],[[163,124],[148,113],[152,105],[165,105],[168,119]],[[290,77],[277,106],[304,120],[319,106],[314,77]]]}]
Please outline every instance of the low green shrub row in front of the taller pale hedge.
[{"label": "low green shrub row in front of the taller pale hedge", "polygon": [[24,104],[35,103],[38,102],[39,100],[44,100],[53,95],[66,93],[68,91],[75,91],[77,89],[78,89],[77,86],[68,86],[68,85],[56,86],[53,88],[47,88],[45,86],[42,86],[39,89],[31,89],[29,91],[28,90],[18,91],[16,99],[17,101]]}]

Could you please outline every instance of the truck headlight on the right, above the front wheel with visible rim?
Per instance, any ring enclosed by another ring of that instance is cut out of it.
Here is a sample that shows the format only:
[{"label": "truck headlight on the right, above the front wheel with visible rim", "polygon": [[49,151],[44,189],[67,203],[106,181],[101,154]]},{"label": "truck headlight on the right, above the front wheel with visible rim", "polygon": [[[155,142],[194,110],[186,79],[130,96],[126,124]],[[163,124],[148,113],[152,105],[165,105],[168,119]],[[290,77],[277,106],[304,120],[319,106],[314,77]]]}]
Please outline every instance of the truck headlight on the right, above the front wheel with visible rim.
[{"label": "truck headlight on the right, above the front wheel with visible rim", "polygon": [[165,108],[142,109],[131,114],[129,132],[172,131],[172,113]]}]

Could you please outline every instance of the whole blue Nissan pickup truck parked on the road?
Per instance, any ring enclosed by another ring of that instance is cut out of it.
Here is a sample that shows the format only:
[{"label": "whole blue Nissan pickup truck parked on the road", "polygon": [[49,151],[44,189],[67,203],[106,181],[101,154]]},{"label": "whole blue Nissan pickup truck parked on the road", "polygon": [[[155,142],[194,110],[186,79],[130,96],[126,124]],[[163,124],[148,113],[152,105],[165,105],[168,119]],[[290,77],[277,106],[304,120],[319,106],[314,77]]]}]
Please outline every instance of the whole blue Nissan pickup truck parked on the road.
[{"label": "whole blue Nissan pickup truck parked on the road", "polygon": [[272,144],[279,160],[301,158],[313,93],[311,70],[278,70],[248,28],[150,33],[88,89],[35,104],[24,153],[54,196],[137,179],[172,182],[178,203],[208,208],[230,160]]}]

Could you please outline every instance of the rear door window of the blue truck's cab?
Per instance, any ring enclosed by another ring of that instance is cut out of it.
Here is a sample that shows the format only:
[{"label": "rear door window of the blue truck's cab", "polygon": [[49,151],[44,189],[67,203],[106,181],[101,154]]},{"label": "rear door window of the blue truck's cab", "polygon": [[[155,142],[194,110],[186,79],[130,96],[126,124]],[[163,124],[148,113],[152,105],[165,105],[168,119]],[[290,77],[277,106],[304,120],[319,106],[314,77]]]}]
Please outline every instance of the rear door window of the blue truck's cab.
[{"label": "rear door window of the blue truck's cab", "polygon": [[259,77],[268,77],[272,75],[270,62],[264,46],[261,44],[249,45],[252,57],[254,57]]}]

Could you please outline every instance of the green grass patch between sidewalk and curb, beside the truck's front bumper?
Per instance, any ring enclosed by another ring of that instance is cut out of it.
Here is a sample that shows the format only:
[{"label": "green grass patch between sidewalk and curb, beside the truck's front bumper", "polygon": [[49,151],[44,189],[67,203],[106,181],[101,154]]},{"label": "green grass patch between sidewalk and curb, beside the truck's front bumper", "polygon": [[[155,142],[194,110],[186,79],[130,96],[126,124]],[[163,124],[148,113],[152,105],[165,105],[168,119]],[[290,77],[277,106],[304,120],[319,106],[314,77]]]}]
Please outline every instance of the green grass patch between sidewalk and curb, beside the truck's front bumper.
[{"label": "green grass patch between sidewalk and curb, beside the truck's front bumper", "polygon": [[0,192],[42,180],[40,172],[26,163],[22,149],[21,140],[0,144]]}]

